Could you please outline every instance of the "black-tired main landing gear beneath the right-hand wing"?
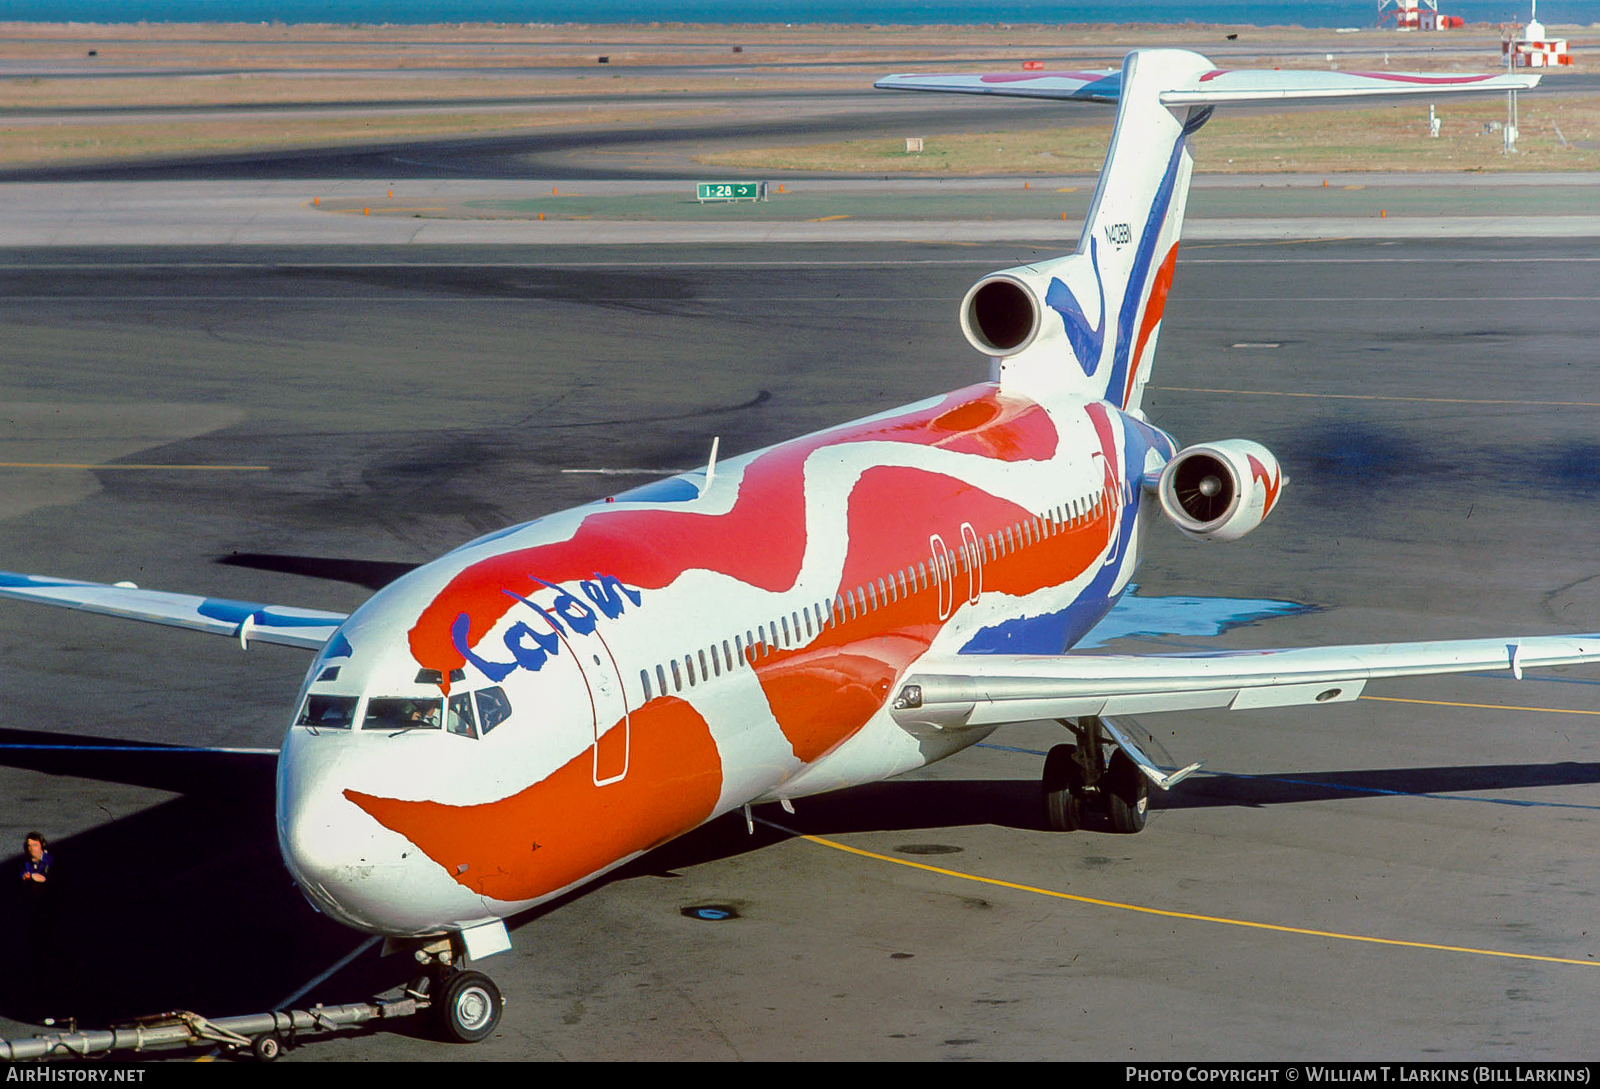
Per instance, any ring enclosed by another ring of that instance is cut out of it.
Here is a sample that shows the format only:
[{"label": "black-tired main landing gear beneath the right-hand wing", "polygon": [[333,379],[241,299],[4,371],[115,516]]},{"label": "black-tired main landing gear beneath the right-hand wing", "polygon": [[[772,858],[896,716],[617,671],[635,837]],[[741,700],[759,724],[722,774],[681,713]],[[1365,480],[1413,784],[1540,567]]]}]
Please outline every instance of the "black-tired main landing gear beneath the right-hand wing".
[{"label": "black-tired main landing gear beneath the right-hand wing", "polygon": [[[1150,809],[1149,784],[1138,764],[1106,736],[1099,716],[1058,720],[1075,745],[1056,745],[1042,777],[1045,822],[1054,832],[1077,832],[1099,809],[1114,832],[1139,832]],[[1107,756],[1109,753],[1109,756]]]}]

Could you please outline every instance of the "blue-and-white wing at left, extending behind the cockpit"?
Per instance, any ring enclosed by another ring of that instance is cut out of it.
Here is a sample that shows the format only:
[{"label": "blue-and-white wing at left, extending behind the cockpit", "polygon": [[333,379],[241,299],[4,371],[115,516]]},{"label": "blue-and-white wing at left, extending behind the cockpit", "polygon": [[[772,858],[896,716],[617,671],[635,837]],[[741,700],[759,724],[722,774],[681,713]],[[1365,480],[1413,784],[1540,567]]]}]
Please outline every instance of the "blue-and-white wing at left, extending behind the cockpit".
[{"label": "blue-and-white wing at left, extending behind the cockpit", "polygon": [[322,609],[141,590],[133,584],[106,585],[10,571],[0,571],[0,596],[226,635],[237,638],[242,646],[258,641],[299,646],[307,651],[320,651],[346,616]]}]

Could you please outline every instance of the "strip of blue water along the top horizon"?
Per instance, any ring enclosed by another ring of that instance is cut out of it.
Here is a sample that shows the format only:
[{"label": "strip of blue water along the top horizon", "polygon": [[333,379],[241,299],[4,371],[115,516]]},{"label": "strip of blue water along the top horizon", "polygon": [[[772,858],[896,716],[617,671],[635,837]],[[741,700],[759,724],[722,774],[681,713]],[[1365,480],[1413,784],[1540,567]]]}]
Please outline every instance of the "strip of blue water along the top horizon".
[{"label": "strip of blue water along the top horizon", "polygon": [[[1440,0],[1469,22],[1525,22],[1528,0]],[[1600,0],[1544,0],[1547,24],[1600,24]],[[5,0],[22,22],[1227,22],[1370,27],[1368,0]]]}]

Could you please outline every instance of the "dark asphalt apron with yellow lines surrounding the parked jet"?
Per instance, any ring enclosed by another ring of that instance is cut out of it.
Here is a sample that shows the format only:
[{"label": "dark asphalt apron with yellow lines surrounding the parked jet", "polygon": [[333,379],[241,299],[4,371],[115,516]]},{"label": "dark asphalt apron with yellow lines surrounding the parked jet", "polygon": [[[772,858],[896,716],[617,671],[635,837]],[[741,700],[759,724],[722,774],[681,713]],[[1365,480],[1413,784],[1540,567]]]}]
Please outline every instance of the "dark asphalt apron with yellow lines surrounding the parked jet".
[{"label": "dark asphalt apron with yellow lines surrounding the parked jet", "polygon": [[[371,576],[330,561],[422,561],[619,488],[563,470],[691,467],[712,437],[750,449],[971,382],[955,302],[1059,246],[11,248],[0,566],[347,609],[363,587],[222,561]],[[1115,646],[1600,625],[1597,269],[1562,238],[1186,245],[1150,416],[1264,441],[1293,483],[1230,545],[1158,526],[1141,593],[1317,608]],[[0,836],[43,828],[61,875],[0,1035],[267,1009],[360,947],[275,851],[256,750],[302,654],[0,614]],[[483,1044],[402,1025],[290,1060],[1584,1057],[1597,683],[1152,716],[1206,771],[1138,836],[1042,830],[1064,734],[1002,732],[754,836],[718,820],[522,919],[483,964],[509,996]],[[298,1001],[406,974],[366,950]]]}]

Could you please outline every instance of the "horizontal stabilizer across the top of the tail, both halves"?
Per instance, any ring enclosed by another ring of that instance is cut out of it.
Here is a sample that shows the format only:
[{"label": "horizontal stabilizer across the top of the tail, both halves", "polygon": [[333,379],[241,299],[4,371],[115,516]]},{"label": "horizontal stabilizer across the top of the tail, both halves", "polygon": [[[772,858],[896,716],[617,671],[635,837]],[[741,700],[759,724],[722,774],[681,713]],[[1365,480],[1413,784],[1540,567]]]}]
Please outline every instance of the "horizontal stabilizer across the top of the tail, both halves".
[{"label": "horizontal stabilizer across the top of the tail, both halves", "polygon": [[[1328,72],[1322,69],[1213,69],[1189,86],[1162,91],[1163,106],[1224,106],[1285,99],[1352,98],[1365,94],[1448,94],[1453,91],[1525,91],[1538,75],[1451,75],[1446,72]],[[1117,102],[1122,72],[990,72],[946,75],[885,75],[882,91],[944,91],[1053,98],[1078,102]]]}]

